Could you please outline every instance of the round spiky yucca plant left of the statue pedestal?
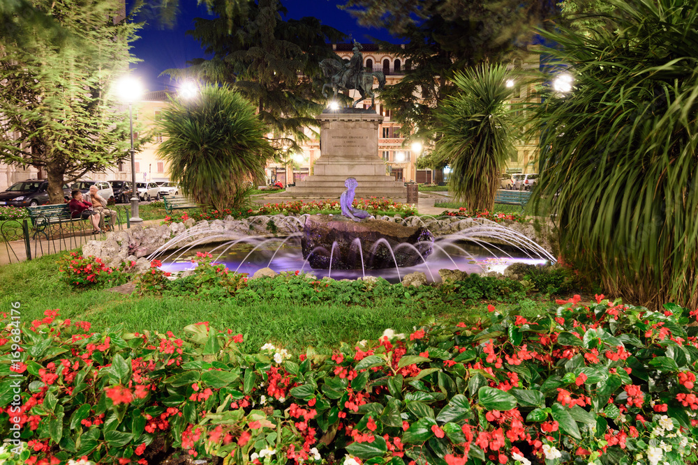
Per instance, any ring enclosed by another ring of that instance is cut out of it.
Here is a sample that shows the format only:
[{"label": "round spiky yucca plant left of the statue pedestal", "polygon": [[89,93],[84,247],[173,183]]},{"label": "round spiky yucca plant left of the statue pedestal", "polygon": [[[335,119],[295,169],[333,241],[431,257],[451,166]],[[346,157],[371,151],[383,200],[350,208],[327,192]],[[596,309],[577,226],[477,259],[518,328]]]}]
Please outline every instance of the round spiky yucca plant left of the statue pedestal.
[{"label": "round spiky yucca plant left of the statue pedestal", "polygon": [[255,108],[228,86],[205,86],[191,101],[172,99],[159,129],[158,154],[185,195],[218,210],[239,208],[246,185],[265,176],[273,149]]}]

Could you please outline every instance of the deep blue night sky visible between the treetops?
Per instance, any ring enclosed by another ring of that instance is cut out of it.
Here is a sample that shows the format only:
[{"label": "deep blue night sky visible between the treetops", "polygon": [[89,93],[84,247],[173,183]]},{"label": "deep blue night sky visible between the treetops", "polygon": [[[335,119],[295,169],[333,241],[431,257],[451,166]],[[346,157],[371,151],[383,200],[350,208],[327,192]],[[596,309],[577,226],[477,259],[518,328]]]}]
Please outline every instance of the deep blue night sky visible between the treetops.
[{"label": "deep blue night sky visible between the treetops", "polygon": [[[130,3],[127,1],[127,4]],[[346,11],[337,8],[337,1],[330,0],[281,0],[288,9],[284,18],[299,19],[304,16],[318,17],[343,33],[351,34],[362,43],[371,42],[369,37],[392,42],[391,36],[385,29],[369,29],[359,26],[357,21]],[[147,20],[148,24],[139,33],[140,39],[133,44],[132,53],[140,63],[132,65],[133,73],[140,77],[148,91],[165,89],[172,85],[170,78],[158,75],[168,68],[184,68],[191,59],[204,56],[199,43],[186,36],[185,32],[193,27],[193,18],[210,17],[205,6],[198,6],[196,0],[180,0],[181,13],[177,17],[174,29],[163,29],[156,20]],[[138,18],[142,20],[143,18]]]}]

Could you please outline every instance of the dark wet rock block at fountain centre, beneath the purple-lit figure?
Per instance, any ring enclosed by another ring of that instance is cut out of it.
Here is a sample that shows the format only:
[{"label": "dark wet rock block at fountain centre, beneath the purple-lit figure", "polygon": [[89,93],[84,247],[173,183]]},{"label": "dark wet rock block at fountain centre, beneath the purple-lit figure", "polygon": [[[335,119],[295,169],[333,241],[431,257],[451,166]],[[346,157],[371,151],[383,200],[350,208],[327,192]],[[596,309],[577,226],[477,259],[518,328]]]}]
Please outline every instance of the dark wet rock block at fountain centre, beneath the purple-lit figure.
[{"label": "dark wet rock block at fountain centre, beneath the purple-lit figure", "polygon": [[309,215],[301,246],[314,269],[378,270],[422,264],[433,250],[433,235],[424,227],[385,220]]}]

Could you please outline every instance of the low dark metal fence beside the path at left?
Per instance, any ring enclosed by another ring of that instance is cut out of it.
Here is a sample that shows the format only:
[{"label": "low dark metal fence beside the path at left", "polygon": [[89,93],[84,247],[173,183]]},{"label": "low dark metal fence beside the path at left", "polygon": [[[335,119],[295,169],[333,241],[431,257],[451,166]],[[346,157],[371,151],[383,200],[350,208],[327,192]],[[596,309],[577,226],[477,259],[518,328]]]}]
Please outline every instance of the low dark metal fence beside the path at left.
[{"label": "low dark metal fence beside the path at left", "polygon": [[[101,215],[100,228],[123,230],[131,227],[130,206],[112,205],[114,225],[109,215]],[[0,221],[0,240],[4,254],[0,252],[0,264],[16,263],[55,254],[63,250],[82,247],[88,241],[103,241],[106,234],[92,234],[91,220],[81,220],[37,215],[34,218]],[[1,250],[1,248],[0,248]]]}]

